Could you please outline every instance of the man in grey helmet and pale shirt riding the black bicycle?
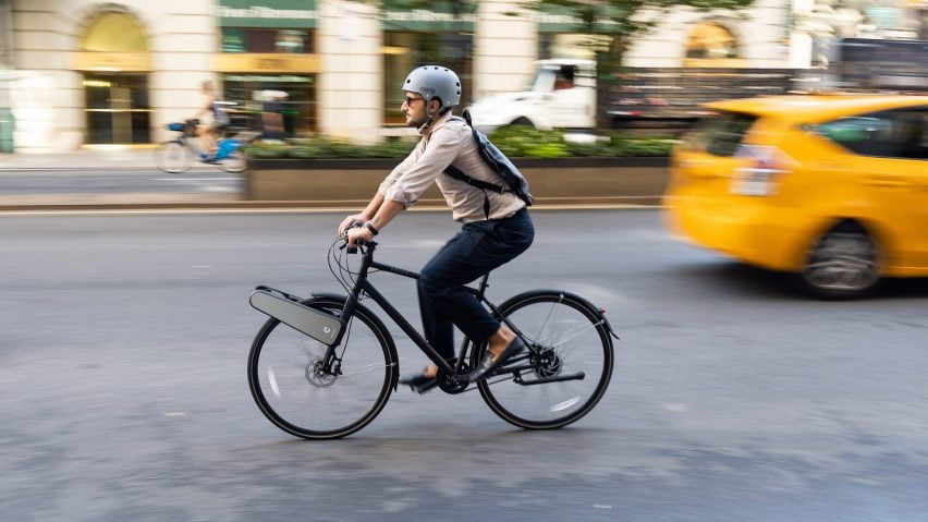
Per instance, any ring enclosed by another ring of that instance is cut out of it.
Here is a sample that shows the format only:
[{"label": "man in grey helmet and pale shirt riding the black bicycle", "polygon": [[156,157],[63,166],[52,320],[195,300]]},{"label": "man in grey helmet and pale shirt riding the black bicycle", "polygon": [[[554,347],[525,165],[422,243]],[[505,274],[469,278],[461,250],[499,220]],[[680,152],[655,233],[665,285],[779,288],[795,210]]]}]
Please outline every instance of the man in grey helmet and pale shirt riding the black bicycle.
[{"label": "man in grey helmet and pale shirt riding the black bicycle", "polygon": [[[403,82],[401,106],[406,124],[417,128],[422,139],[415,149],[383,180],[359,214],[339,224],[339,234],[349,243],[370,241],[401,211],[415,205],[432,184],[438,184],[462,223],[452,238],[423,268],[417,290],[423,331],[429,344],[445,360],[454,359],[454,329],[475,341],[486,341],[488,350],[471,374],[479,380],[525,344],[475,299],[465,284],[509,263],[525,252],[535,236],[528,209],[512,192],[497,193],[442,175],[454,166],[473,179],[505,184],[480,157],[467,123],[452,117],[461,101],[461,81],[440,65],[414,69]],[[363,224],[363,227],[353,227]],[[414,390],[427,390],[437,378],[438,367],[429,364],[420,374],[400,383]]]}]

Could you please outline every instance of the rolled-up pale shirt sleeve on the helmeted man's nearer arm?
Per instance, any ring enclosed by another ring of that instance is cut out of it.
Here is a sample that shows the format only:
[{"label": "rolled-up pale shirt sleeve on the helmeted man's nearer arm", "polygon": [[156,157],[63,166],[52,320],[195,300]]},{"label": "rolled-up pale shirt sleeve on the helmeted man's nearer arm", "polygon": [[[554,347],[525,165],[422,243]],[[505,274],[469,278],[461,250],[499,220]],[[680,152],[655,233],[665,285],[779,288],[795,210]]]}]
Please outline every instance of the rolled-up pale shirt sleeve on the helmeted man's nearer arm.
[{"label": "rolled-up pale shirt sleeve on the helmeted man's nearer arm", "polygon": [[386,199],[402,203],[406,208],[415,205],[435,179],[454,161],[460,149],[461,139],[455,130],[436,129],[428,141],[419,142],[383,180],[379,187],[380,194]]}]

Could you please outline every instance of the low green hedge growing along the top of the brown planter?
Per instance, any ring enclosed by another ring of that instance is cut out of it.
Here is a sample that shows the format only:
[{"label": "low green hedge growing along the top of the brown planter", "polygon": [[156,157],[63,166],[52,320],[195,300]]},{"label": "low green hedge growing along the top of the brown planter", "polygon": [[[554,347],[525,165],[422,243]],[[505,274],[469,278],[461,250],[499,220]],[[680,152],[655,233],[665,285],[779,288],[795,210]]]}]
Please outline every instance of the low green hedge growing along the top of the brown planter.
[{"label": "low green hedge growing along the top of the brown planter", "polygon": [[[594,143],[565,139],[560,131],[528,126],[502,128],[490,139],[511,158],[640,157],[669,156],[676,143],[670,138],[631,137],[620,133],[599,135]],[[286,143],[255,143],[246,154],[252,158],[404,158],[417,139],[390,139],[376,145],[357,145],[341,139],[313,137]]]}]

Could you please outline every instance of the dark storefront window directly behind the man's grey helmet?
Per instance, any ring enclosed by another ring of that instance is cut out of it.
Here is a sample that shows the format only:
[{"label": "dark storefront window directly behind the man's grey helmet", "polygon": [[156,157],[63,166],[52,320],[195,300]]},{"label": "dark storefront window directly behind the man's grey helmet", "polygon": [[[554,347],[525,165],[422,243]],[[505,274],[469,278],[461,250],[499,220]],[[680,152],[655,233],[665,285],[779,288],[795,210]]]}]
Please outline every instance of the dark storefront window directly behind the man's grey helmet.
[{"label": "dark storefront window directly behind the man's grey helmet", "polygon": [[387,124],[403,124],[404,118],[400,111],[403,80],[418,65],[439,63],[457,73],[464,89],[459,107],[466,107],[471,102],[474,53],[472,34],[387,32],[383,39],[383,119]]}]

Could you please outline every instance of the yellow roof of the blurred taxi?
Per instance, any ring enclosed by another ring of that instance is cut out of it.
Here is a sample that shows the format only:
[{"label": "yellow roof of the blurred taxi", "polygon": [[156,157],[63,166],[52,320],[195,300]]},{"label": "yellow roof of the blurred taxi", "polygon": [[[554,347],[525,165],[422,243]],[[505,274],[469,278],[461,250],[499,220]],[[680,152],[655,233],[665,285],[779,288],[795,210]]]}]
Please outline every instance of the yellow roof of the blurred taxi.
[{"label": "yellow roof of the blurred taxi", "polygon": [[902,107],[925,106],[926,95],[900,94],[793,94],[757,96],[704,104],[703,107],[731,112],[777,117],[794,121],[822,121],[845,114],[875,112]]}]

